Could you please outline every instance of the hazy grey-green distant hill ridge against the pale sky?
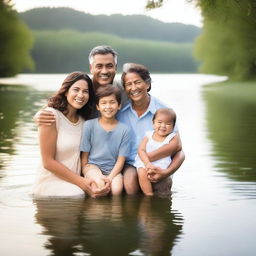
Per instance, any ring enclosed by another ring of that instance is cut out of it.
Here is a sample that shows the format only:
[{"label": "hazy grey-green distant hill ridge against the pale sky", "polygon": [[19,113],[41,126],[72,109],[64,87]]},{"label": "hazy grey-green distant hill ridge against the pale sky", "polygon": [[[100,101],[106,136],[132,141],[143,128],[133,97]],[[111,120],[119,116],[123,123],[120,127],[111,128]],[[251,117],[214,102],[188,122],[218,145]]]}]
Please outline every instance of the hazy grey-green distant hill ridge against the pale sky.
[{"label": "hazy grey-green distant hill ridge against the pale sky", "polygon": [[194,25],[164,23],[144,15],[91,15],[70,8],[36,8],[19,15],[33,30],[74,29],[178,43],[191,43],[201,33]]}]

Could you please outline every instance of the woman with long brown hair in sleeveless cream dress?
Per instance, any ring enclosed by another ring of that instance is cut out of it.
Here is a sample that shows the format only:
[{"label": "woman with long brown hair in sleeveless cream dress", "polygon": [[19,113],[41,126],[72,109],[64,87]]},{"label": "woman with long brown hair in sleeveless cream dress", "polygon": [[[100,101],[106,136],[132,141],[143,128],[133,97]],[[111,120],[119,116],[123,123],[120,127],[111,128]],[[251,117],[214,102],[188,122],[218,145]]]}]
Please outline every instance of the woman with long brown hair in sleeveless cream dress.
[{"label": "woman with long brown hair in sleeveless cream dress", "polygon": [[80,140],[82,126],[94,108],[91,79],[82,72],[72,72],[48,101],[47,110],[56,118],[53,125],[39,126],[42,164],[33,187],[35,197],[84,196],[108,192],[92,189],[93,181],[82,177]]}]

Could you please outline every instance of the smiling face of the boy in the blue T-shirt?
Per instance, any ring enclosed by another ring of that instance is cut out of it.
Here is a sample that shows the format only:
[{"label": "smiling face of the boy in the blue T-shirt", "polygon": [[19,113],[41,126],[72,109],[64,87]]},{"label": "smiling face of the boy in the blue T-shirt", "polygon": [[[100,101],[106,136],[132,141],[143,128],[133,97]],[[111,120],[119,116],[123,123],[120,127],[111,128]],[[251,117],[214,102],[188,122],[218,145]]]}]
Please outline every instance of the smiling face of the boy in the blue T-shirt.
[{"label": "smiling face of the boy in the blue T-shirt", "polygon": [[96,105],[97,110],[100,112],[101,117],[106,119],[113,119],[117,111],[121,108],[121,105],[118,104],[114,94],[111,94],[106,97],[102,97],[99,100],[99,104]]}]

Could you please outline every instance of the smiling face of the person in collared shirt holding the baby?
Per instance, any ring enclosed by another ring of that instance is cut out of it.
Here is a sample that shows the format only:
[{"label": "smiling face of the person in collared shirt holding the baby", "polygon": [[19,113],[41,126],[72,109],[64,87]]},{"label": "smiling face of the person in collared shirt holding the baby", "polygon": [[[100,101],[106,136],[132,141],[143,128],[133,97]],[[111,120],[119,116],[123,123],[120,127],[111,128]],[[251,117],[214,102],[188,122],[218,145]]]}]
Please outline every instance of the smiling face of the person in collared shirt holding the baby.
[{"label": "smiling face of the person in collared shirt holding the baby", "polygon": [[148,99],[149,84],[146,83],[137,73],[127,73],[124,77],[124,89],[127,96],[133,102],[140,102]]}]

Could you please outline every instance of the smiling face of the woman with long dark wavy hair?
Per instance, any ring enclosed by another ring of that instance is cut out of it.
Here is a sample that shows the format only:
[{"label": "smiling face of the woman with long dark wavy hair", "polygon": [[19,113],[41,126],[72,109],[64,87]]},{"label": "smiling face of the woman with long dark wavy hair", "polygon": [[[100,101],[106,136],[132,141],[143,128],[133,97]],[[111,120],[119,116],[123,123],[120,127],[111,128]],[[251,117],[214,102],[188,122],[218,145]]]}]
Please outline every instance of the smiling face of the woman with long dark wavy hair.
[{"label": "smiling face of the woman with long dark wavy hair", "polygon": [[85,80],[76,81],[67,91],[66,97],[70,107],[82,108],[89,100],[88,83]]}]

